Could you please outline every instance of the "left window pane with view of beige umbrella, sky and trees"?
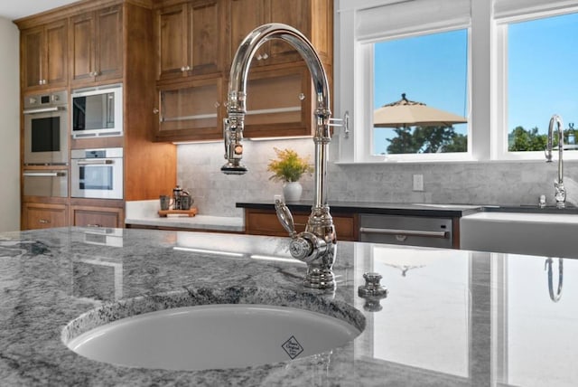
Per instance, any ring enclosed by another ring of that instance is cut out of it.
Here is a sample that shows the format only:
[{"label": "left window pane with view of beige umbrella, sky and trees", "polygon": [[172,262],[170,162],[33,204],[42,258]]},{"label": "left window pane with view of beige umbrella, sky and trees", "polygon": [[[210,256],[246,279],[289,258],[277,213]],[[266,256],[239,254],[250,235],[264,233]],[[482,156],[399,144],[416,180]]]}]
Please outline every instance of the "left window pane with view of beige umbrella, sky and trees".
[{"label": "left window pane with view of beige umbrella, sky and trees", "polygon": [[[467,30],[378,42],[374,52],[374,109],[382,111],[373,154],[467,152],[468,124],[459,123],[468,109]],[[384,107],[402,94],[420,104]],[[398,117],[402,110],[412,118]]]}]

